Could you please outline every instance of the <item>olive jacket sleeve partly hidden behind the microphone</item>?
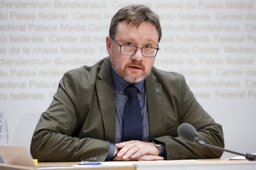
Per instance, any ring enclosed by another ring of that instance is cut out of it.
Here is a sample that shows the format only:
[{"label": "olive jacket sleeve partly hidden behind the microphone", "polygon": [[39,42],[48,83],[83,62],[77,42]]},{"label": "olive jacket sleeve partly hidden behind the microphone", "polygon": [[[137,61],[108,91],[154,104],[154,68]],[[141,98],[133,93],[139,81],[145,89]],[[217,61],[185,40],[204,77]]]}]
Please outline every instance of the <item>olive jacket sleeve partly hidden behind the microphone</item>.
[{"label": "olive jacket sleeve partly hidden behind the microphone", "polygon": [[[222,126],[217,124],[214,119],[206,113],[202,106],[197,102],[193,93],[190,91],[185,78],[179,76],[176,83],[181,88],[171,89],[172,98],[170,103],[175,107],[174,117],[177,119],[176,126],[172,129],[173,133],[154,138],[159,142],[165,143],[166,159],[209,159],[219,158],[223,151],[202,148],[196,143],[184,142],[177,134],[177,128],[182,123],[189,123],[195,127],[199,139],[207,144],[224,147]],[[180,90],[179,90],[180,89]],[[171,124],[172,122],[170,122]]]}]

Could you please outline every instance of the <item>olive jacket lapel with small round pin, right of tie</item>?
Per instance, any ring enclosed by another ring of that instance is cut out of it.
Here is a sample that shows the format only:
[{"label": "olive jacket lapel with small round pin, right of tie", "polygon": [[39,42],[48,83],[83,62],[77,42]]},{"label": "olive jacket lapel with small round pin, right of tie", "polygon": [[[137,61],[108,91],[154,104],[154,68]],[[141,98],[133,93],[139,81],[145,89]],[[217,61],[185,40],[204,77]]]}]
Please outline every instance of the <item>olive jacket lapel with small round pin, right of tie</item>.
[{"label": "olive jacket lapel with small round pin, right of tie", "polygon": [[155,83],[155,79],[156,77],[151,73],[145,80],[150,131],[149,141],[152,138],[164,135],[162,131],[162,86]]}]

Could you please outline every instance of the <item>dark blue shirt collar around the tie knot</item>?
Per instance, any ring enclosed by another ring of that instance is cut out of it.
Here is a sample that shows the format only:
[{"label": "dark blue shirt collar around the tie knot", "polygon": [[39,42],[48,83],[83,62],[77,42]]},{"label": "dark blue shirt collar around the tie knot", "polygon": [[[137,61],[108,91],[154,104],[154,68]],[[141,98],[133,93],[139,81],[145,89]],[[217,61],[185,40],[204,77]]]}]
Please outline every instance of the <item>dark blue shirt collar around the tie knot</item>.
[{"label": "dark blue shirt collar around the tie knot", "polygon": [[[113,77],[115,95],[117,96],[130,84],[127,81],[125,81],[123,78],[121,78],[116,73],[116,71],[114,71],[112,66],[111,66],[111,72]],[[139,81],[138,83],[134,83],[133,85],[135,85],[139,89],[139,94],[143,96],[143,94],[145,93],[144,80]]]}]

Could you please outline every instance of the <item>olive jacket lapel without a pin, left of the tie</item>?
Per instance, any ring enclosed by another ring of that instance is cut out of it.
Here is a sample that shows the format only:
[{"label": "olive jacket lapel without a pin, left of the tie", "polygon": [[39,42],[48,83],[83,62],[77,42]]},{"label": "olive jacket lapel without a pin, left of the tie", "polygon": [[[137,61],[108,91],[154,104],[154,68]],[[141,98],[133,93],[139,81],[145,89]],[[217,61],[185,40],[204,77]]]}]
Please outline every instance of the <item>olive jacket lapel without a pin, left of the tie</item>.
[{"label": "olive jacket lapel without a pin, left of the tie", "polygon": [[110,58],[103,62],[98,76],[100,80],[96,81],[96,89],[102,113],[102,120],[105,127],[104,140],[115,143],[116,106],[113,78],[110,69]]}]

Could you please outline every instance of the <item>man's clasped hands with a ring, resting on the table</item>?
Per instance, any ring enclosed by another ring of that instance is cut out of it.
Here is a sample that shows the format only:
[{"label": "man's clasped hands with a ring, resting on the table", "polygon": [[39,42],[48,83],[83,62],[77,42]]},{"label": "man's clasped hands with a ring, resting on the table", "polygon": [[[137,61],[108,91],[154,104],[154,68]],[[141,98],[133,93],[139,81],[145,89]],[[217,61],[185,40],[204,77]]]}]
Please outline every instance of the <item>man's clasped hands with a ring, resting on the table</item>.
[{"label": "man's clasped hands with a ring, resting on the table", "polygon": [[158,156],[158,149],[151,142],[127,141],[115,144],[116,150],[121,149],[114,161],[164,160]]}]

